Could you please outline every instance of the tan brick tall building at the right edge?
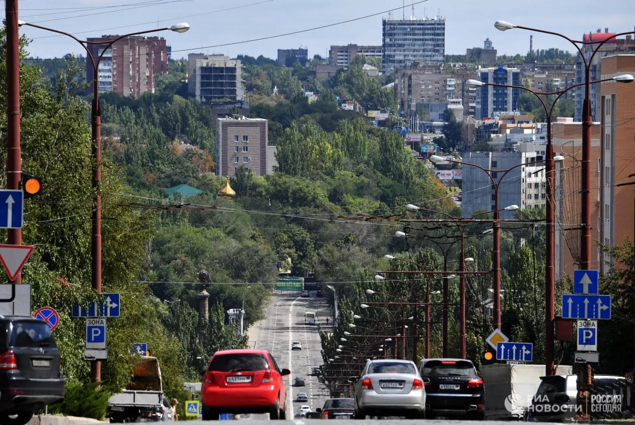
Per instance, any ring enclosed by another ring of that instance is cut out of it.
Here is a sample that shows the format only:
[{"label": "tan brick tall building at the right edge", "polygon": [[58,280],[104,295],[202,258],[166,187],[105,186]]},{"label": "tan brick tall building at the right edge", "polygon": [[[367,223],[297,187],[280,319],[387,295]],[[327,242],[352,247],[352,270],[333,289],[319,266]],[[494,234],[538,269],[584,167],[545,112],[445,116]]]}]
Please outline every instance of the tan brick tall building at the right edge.
[{"label": "tan brick tall building at the right edge", "polygon": [[[635,55],[605,56],[601,60],[601,79],[622,74],[635,75]],[[629,177],[635,173],[635,84],[606,82],[601,84],[601,146],[598,158],[600,171],[597,182],[599,188],[599,216],[597,218],[598,241],[605,245],[620,245],[625,239],[635,242],[635,208],[633,186],[620,184],[635,181]],[[601,252],[598,248],[598,258]],[[610,270],[613,259],[604,256],[599,267]]]}]

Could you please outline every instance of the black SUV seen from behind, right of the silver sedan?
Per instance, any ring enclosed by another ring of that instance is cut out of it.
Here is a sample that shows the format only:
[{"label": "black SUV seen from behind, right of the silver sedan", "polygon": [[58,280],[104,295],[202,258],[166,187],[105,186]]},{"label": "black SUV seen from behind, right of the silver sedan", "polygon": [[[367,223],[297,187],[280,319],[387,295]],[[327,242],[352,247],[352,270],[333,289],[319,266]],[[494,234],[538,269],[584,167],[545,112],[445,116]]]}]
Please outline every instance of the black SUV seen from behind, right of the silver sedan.
[{"label": "black SUV seen from behind, right of the silver sedan", "polygon": [[462,358],[427,358],[419,362],[424,379],[425,417],[485,419],[485,388],[474,363]]}]

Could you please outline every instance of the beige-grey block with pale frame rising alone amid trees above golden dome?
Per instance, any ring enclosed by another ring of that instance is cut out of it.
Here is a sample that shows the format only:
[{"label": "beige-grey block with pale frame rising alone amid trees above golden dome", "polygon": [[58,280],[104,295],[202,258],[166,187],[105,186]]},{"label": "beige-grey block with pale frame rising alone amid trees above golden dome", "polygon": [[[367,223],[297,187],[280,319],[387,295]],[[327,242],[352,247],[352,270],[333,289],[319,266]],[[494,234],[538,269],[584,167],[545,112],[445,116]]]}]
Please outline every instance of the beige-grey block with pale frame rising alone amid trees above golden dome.
[{"label": "beige-grey block with pale frame rising alone amid trees above golden dome", "polygon": [[238,167],[256,176],[267,174],[268,121],[262,118],[219,118],[216,134],[216,174],[235,177]]}]

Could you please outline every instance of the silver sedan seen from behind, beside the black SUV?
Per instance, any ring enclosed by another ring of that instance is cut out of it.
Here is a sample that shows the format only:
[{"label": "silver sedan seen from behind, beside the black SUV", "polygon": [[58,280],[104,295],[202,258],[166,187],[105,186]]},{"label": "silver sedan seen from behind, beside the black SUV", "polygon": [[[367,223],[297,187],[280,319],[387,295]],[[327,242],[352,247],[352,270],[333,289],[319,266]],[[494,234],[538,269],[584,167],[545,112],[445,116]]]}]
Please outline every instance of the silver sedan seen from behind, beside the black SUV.
[{"label": "silver sedan seen from behind, beside the black SUV", "polygon": [[425,417],[424,383],[411,360],[368,360],[355,383],[355,417]]}]

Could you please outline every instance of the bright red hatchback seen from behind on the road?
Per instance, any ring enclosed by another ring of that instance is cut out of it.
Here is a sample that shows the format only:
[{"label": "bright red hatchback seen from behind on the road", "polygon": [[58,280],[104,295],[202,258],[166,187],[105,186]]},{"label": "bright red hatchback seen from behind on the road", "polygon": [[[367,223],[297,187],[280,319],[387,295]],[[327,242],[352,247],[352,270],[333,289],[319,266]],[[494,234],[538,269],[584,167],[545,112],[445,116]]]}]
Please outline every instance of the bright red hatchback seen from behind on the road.
[{"label": "bright red hatchback seen from behind on the road", "polygon": [[270,419],[286,419],[286,387],[283,376],[267,350],[217,351],[201,372],[203,421],[218,421],[222,413],[269,413]]}]

